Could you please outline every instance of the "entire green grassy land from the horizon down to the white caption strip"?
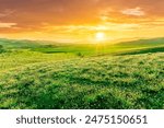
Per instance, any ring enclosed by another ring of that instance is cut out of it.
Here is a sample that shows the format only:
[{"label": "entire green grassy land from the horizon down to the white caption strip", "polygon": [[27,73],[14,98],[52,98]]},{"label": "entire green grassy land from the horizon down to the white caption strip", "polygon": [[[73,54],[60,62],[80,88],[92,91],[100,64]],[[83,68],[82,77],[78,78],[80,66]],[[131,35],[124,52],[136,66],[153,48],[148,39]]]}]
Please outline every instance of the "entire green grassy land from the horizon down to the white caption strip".
[{"label": "entire green grassy land from the horizon down to the white caption strip", "polygon": [[164,38],[0,45],[0,108],[164,108]]}]

